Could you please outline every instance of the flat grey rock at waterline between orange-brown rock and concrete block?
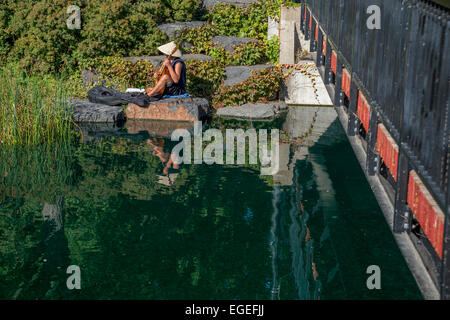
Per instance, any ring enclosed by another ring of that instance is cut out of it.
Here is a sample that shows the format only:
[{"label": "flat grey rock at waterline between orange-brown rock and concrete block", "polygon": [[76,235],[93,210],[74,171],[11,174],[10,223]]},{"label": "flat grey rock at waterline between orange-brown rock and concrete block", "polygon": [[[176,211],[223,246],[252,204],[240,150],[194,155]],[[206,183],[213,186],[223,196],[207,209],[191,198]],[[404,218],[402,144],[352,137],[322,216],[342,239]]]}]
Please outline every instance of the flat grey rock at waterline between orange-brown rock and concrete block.
[{"label": "flat grey rock at waterline between orange-brown rock and concrete block", "polygon": [[242,106],[225,107],[217,110],[216,116],[244,120],[273,120],[287,111],[284,102],[248,103]]}]

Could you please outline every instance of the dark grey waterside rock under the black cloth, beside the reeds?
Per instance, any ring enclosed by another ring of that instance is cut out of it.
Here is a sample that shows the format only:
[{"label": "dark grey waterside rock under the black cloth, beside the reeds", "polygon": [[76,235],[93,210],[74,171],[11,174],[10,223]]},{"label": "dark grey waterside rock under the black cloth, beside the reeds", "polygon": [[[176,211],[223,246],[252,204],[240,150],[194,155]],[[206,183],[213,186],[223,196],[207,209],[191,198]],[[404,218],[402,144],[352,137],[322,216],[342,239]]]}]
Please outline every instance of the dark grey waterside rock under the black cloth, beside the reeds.
[{"label": "dark grey waterside rock under the black cloth, beside the reeds", "polygon": [[122,107],[92,103],[87,99],[70,99],[68,109],[75,122],[119,123],[126,119]]}]

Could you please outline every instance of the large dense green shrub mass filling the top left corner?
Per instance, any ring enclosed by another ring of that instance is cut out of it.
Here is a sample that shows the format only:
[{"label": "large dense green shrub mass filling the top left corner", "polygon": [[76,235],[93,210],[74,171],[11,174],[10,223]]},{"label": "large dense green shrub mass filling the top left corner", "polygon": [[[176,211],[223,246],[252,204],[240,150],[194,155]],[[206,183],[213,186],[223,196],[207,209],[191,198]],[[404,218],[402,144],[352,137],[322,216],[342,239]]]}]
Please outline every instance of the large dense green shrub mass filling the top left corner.
[{"label": "large dense green shrub mass filling the top left corner", "polygon": [[[82,29],[66,26],[78,5]],[[152,55],[167,40],[157,24],[191,20],[201,0],[5,0],[0,4],[0,64],[36,72],[74,72],[77,61],[101,56]]]}]

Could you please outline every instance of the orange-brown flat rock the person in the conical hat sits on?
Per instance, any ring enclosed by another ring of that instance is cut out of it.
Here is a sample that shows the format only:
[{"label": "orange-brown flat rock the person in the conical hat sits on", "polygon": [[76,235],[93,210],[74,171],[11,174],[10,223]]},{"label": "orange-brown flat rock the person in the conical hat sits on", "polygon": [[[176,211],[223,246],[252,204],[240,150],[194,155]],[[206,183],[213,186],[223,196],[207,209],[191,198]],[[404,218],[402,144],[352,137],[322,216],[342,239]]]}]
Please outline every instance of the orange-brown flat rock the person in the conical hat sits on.
[{"label": "orange-brown flat rock the person in the conical hat sits on", "polygon": [[211,109],[204,98],[170,98],[152,102],[147,108],[129,104],[127,119],[198,121],[207,118]]}]

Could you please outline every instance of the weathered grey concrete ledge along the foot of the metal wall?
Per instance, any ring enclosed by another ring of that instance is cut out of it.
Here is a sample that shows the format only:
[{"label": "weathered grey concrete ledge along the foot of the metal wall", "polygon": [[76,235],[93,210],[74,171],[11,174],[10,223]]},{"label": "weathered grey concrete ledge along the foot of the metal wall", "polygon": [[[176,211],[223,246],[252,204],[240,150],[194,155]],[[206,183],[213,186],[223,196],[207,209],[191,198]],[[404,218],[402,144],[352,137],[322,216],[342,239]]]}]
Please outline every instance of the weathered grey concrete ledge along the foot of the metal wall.
[{"label": "weathered grey concrete ledge along the foot of the metal wall", "polygon": [[[347,127],[348,116],[342,109],[342,107],[335,108],[338,114],[338,118],[344,128]],[[367,155],[364,151],[361,142],[357,137],[350,137],[347,135],[348,140],[353,148],[353,151],[356,155],[356,158],[361,165],[364,174],[366,175],[367,181],[370,184],[370,187],[380,205],[381,211],[383,212],[384,218],[389,225],[389,228],[394,235],[395,241],[405,258],[406,264],[408,265],[409,270],[411,271],[416,283],[426,300],[440,300],[440,294],[438,288],[434,285],[431,276],[428,273],[428,270],[425,268],[425,265],[417,252],[414,244],[407,234],[401,233],[397,234],[393,232],[393,223],[394,223],[394,207],[389,201],[389,197],[386,191],[383,188],[383,185],[380,182],[380,179],[377,176],[369,176],[366,173],[366,159]]]}]

